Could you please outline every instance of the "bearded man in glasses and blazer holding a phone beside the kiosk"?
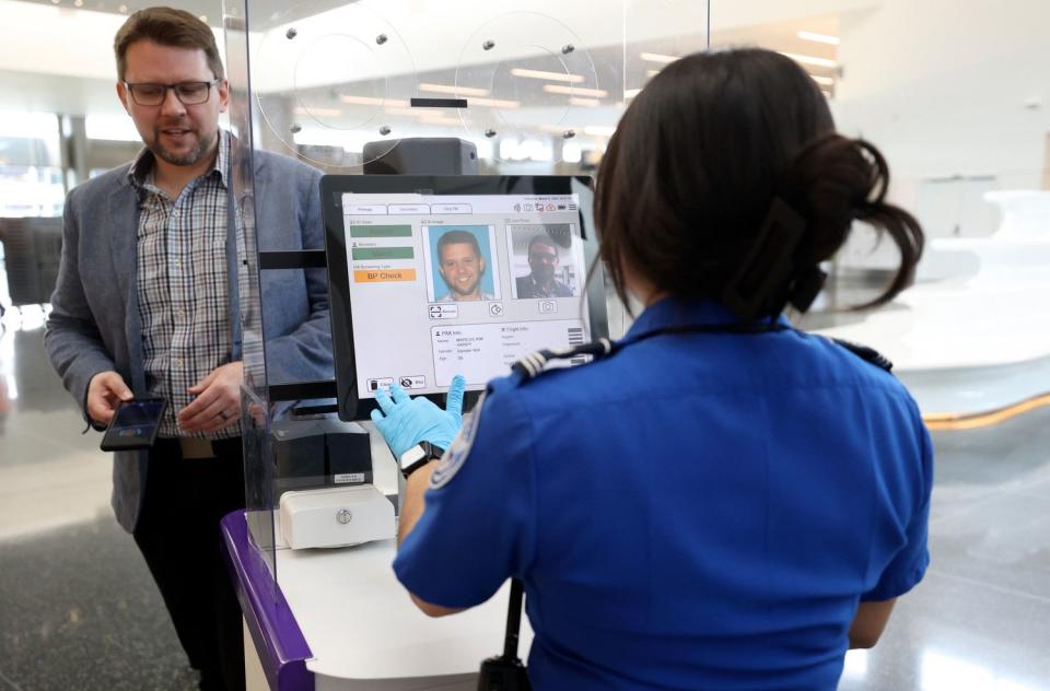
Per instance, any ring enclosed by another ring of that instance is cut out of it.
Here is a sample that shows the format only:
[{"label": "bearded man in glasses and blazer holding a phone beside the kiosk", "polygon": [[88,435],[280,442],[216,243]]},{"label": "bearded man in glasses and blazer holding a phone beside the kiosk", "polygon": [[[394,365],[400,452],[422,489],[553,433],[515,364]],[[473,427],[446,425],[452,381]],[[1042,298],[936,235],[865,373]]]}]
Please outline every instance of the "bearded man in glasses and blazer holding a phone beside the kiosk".
[{"label": "bearded man in glasses and blazer holding a phone beside the kiosk", "polygon": [[[232,136],[219,128],[229,86],[211,30],[182,10],[136,12],[114,51],[117,95],[145,148],[70,192],[45,340],[95,428],[121,400],[168,400],[153,447],[116,454],[113,505],[200,687],[241,689],[241,610],[219,531],[224,514],[244,507],[244,200],[232,194]],[[264,152],[253,165],[259,247],[323,246],[319,172]],[[287,273],[264,284],[267,374],[330,378],[323,271]]]}]

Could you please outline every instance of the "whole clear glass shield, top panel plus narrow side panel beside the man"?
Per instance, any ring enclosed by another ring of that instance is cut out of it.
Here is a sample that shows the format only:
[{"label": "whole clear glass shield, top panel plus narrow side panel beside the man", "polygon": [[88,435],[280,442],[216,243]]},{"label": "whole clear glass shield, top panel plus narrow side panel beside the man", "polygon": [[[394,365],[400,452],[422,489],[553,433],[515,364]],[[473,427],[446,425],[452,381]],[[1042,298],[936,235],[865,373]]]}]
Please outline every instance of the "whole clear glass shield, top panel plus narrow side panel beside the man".
[{"label": "whole clear glass shield, top panel plus narrow side panel beside the man", "polygon": [[[281,483],[271,432],[288,406],[271,400],[271,387],[290,382],[277,382],[266,361],[264,306],[273,273],[303,269],[266,268],[268,251],[299,248],[259,241],[272,233],[270,220],[255,213],[256,153],[359,174],[402,138],[456,137],[476,145],[481,174],[593,174],[644,83],[667,61],[707,47],[708,2],[229,0],[224,28],[245,237],[238,269],[250,532],[276,575],[280,539],[271,515]],[[626,327],[622,314],[610,323],[614,336]],[[386,477],[396,491],[389,453],[375,434],[371,445],[376,483]]]}]

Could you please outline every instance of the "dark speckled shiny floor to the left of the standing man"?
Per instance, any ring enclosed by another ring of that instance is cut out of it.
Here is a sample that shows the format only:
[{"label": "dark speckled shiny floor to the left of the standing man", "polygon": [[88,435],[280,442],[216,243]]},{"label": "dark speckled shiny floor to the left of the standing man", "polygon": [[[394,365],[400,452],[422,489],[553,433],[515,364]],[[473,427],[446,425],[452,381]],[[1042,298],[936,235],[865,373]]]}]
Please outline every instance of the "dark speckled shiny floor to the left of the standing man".
[{"label": "dark speckled shiny floor to the left of the standing man", "polygon": [[47,362],[40,316],[9,313],[0,332],[0,690],[195,689],[145,563],[113,518],[108,454],[97,433],[80,434]]}]

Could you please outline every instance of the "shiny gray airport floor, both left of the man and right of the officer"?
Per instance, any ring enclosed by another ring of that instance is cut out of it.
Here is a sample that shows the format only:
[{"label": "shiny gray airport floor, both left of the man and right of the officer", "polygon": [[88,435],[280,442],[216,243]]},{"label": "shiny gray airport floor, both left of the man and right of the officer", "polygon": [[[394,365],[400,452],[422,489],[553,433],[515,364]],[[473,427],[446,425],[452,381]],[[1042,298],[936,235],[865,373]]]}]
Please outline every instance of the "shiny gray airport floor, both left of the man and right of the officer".
[{"label": "shiny gray airport floor, both left of the man and right of the officer", "polygon": [[[194,688],[39,315],[5,323],[0,690]],[[933,565],[879,644],[848,656],[841,689],[1050,691],[1050,408],[934,442]]]}]

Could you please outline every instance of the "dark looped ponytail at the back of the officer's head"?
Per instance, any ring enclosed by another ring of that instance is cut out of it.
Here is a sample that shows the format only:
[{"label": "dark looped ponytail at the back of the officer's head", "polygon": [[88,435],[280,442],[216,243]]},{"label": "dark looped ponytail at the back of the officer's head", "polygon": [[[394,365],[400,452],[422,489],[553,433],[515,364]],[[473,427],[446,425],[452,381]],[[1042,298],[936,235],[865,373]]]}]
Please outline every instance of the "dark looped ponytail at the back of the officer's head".
[{"label": "dark looped ponytail at the back of the officer's head", "polygon": [[854,220],[888,234],[900,250],[897,274],[879,296],[854,309],[891,301],[914,280],[924,237],[913,215],[886,202],[889,166],[871,143],[827,134],[803,148],[784,175],[781,196],[808,222],[795,260],[815,265],[845,244]]}]

